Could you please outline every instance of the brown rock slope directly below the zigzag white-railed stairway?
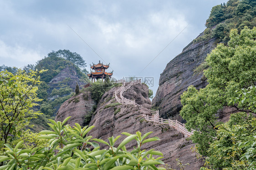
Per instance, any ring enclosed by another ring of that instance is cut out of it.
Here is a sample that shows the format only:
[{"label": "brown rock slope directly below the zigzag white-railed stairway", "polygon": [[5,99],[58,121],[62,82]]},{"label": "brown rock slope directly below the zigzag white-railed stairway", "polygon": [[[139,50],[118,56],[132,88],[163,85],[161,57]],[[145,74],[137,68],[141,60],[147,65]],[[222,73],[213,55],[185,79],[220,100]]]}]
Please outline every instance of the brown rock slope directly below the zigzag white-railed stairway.
[{"label": "brown rock slope directly below the zigzag white-railed stairway", "polygon": [[[149,142],[142,146],[142,149],[155,149],[164,154],[162,159],[164,163],[169,164],[174,169],[179,169],[176,158],[189,163],[186,168],[189,170],[198,170],[203,165],[201,160],[196,159],[195,153],[191,151],[194,146],[192,141],[187,141],[183,134],[170,128],[168,125],[159,125],[147,122],[143,119],[142,114],[150,115],[150,100],[148,98],[148,87],[142,85],[132,86],[132,90],[123,93],[124,97],[135,99],[135,102],[141,106],[119,104],[115,99],[115,88],[106,92],[97,105],[97,110],[92,117],[90,126],[95,126],[88,135],[93,138],[99,138],[108,141],[108,137],[121,137],[116,142],[116,146],[126,137],[122,132],[135,134],[140,131],[142,134],[153,131],[150,137],[158,136],[160,141]],[[136,142],[127,145],[128,151],[137,145]],[[107,146],[100,144],[102,148]]]}]

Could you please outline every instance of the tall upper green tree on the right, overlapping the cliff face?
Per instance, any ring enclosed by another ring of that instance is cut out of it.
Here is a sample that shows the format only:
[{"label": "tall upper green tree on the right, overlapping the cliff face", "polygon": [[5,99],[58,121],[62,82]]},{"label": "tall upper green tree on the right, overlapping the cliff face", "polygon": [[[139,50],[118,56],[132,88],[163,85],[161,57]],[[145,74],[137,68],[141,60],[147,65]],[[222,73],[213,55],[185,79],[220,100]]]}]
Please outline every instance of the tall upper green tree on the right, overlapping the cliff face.
[{"label": "tall upper green tree on the right, overlapping the cliff face", "polygon": [[256,85],[256,28],[231,30],[228,46],[218,46],[207,56],[209,68],[205,71],[208,85],[197,90],[189,87],[181,96],[183,105],[180,115],[187,121],[188,129],[194,132],[192,140],[198,143],[200,154],[208,155],[209,143],[218,130],[217,115],[227,114],[222,110],[230,107],[233,112],[256,113],[248,107],[230,102],[238,97],[236,90]]}]

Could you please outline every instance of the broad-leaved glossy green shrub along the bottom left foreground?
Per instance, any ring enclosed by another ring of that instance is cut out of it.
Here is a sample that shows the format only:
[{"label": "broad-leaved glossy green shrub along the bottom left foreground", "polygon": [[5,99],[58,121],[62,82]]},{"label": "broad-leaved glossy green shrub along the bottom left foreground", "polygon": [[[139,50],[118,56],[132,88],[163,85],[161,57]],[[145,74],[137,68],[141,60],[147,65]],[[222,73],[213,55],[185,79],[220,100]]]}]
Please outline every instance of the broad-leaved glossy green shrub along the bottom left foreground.
[{"label": "broad-leaved glossy green shrub along the bottom left foreground", "polygon": [[[150,141],[158,141],[158,137],[147,138],[152,132],[143,136],[138,131],[132,135],[126,132],[122,134],[127,137],[117,146],[116,138],[109,137],[108,142],[101,139],[92,139],[87,133],[93,126],[81,128],[79,124],[73,128],[63,122],[50,120],[51,131],[41,131],[39,136],[48,139],[48,147],[36,147],[33,149],[19,149],[23,141],[20,141],[15,148],[5,144],[5,156],[0,156],[1,170],[14,169],[46,169],[46,170],[164,170],[155,165],[164,164],[153,155],[163,154],[159,151],[141,150],[141,146]],[[147,138],[147,139],[146,139]],[[125,145],[131,141],[137,141],[137,147],[133,151],[127,151]],[[100,149],[96,143],[107,145],[109,149]],[[117,146],[117,147],[116,147]]]}]

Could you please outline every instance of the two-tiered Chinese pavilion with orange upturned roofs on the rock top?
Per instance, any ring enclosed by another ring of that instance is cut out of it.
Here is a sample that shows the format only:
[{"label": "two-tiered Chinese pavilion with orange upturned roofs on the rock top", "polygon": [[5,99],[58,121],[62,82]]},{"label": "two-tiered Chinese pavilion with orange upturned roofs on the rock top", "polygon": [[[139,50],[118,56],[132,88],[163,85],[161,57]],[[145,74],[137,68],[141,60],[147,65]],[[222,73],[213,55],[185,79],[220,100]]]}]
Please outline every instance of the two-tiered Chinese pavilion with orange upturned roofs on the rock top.
[{"label": "two-tiered Chinese pavilion with orange upturned roofs on the rock top", "polygon": [[[106,69],[109,68],[109,64],[104,65],[100,61],[97,64],[94,64],[94,63],[92,63],[92,64],[93,65],[90,64],[90,66],[91,66],[91,73],[88,74],[88,77],[92,78],[92,80],[94,82],[95,82],[95,79],[102,78],[102,81],[103,81],[103,79],[105,79],[107,75],[109,76],[109,78],[111,78],[111,76],[113,75],[113,71],[111,73],[107,73],[105,71]],[[93,72],[92,72],[92,70],[93,70]]]}]

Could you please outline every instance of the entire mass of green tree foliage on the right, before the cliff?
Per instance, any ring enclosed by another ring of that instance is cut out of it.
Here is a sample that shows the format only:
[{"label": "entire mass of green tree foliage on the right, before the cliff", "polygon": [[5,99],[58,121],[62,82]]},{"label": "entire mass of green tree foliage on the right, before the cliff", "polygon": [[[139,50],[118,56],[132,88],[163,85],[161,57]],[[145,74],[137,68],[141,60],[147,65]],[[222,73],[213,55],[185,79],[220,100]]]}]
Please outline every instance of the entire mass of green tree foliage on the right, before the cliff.
[{"label": "entire mass of green tree foliage on the right, before the cliff", "polygon": [[[208,85],[190,86],[181,96],[181,116],[200,154],[214,169],[256,168],[256,27],[230,32],[229,46],[219,44],[206,58]],[[223,109],[223,108],[229,109]],[[218,115],[231,115],[218,122]],[[251,114],[251,116],[249,116]]]}]

